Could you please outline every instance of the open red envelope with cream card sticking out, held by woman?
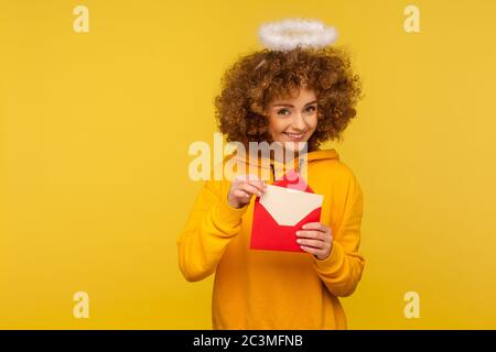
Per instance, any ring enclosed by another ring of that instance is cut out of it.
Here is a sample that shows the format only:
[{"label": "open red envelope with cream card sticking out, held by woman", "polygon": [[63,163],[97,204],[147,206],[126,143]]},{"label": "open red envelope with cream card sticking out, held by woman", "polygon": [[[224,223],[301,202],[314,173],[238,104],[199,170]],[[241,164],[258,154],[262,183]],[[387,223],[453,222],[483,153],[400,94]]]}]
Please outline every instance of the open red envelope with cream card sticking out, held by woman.
[{"label": "open red envelope with cream card sticking out, held by woman", "polygon": [[[255,199],[251,250],[304,252],[296,231],[321,219],[323,196],[291,170]],[[304,252],[306,253],[306,252]]]}]

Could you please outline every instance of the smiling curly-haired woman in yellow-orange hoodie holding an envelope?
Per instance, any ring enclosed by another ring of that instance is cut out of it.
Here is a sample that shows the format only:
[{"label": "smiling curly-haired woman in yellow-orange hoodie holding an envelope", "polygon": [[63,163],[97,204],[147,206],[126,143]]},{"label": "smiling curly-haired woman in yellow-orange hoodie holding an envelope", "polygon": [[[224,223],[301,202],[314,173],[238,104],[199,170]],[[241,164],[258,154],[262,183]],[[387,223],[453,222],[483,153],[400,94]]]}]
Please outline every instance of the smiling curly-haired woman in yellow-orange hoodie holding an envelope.
[{"label": "smiling curly-haired woman in yellow-orange hoodie holding an envelope", "polygon": [[[288,23],[298,30],[310,22]],[[250,250],[254,201],[267,183],[207,180],[177,239],[180,268],[190,282],[215,273],[214,329],[346,329],[338,297],[354,293],[365,265],[358,253],[363,191],[337,152],[320,145],[339,140],[355,117],[359,79],[345,52],[328,46],[328,35],[313,46],[265,38],[268,48],[239,58],[225,74],[218,125],[247,150],[250,142],[278,142],[287,152],[305,153],[305,182],[324,196],[321,221],[296,232],[300,253]],[[254,166],[252,157],[240,155]],[[239,161],[236,153],[217,167],[233,157]],[[261,158],[255,158],[257,172],[267,165]],[[268,183],[291,169],[274,154],[268,165]]]}]

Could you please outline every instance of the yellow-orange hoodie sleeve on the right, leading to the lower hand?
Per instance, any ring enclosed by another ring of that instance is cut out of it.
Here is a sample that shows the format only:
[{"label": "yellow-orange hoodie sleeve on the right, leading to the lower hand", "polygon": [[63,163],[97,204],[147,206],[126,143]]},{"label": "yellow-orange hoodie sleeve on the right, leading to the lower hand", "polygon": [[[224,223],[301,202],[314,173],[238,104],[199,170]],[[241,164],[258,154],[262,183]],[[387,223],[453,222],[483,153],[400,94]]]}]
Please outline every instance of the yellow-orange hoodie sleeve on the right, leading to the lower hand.
[{"label": "yellow-orange hoodie sleeve on the right, leading to the lower hand", "polygon": [[364,196],[355,177],[347,194],[343,219],[333,232],[331,254],[323,261],[314,256],[319,277],[337,297],[347,297],[355,292],[365,266],[365,260],[358,253]]}]

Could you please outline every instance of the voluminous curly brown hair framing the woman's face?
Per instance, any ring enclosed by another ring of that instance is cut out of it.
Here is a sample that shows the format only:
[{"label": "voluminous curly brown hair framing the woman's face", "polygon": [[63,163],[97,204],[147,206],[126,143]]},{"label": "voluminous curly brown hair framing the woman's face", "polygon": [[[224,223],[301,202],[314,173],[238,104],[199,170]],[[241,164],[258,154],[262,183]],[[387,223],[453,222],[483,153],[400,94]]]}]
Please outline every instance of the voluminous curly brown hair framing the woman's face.
[{"label": "voluminous curly brown hair framing the woman's face", "polygon": [[356,116],[363,97],[360,79],[352,70],[349,55],[342,48],[296,47],[280,52],[267,48],[241,56],[224,74],[222,91],[215,97],[215,118],[227,141],[271,142],[268,105],[291,97],[300,87],[315,92],[317,127],[308,150],[328,140],[342,141],[342,132]]}]

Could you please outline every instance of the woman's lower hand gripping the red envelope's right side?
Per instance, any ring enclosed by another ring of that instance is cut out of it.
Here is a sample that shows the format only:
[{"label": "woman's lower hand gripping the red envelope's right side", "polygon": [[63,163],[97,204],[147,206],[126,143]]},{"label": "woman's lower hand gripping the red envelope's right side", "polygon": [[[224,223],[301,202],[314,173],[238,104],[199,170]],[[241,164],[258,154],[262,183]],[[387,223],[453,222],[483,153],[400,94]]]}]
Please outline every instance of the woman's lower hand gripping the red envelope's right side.
[{"label": "woman's lower hand gripping the red envelope's right side", "polygon": [[309,222],[303,230],[296,231],[300,248],[323,261],[333,250],[332,230],[322,222]]}]

